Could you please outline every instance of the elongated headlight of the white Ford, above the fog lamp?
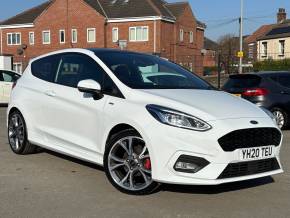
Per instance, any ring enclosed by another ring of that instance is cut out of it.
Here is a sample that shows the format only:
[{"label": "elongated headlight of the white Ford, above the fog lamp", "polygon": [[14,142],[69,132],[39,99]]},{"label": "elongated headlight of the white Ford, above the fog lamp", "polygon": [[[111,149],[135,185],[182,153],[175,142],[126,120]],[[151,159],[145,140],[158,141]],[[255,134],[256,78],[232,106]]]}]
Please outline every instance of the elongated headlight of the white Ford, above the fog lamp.
[{"label": "elongated headlight of the white Ford, above the fog lamp", "polygon": [[205,121],[180,111],[158,105],[147,105],[146,108],[156,120],[166,125],[195,131],[207,131],[212,128]]}]

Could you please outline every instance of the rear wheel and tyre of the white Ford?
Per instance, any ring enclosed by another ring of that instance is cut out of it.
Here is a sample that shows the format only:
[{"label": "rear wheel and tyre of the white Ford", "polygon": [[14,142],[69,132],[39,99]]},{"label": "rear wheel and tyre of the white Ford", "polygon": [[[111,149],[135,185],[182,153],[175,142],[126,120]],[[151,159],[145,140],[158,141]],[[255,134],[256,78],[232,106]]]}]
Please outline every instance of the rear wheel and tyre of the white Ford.
[{"label": "rear wheel and tyre of the white Ford", "polygon": [[26,123],[19,111],[9,115],[8,141],[15,154],[26,155],[37,151],[37,146],[28,141]]}]

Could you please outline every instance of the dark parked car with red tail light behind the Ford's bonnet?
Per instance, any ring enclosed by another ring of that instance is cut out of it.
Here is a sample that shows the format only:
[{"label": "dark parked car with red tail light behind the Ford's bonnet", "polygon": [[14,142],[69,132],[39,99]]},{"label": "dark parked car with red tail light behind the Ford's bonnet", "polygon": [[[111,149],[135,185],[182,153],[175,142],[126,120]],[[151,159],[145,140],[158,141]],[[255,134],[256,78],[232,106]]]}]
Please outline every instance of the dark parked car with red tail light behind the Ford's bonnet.
[{"label": "dark parked car with red tail light behind the Ford's bonnet", "polygon": [[279,128],[290,119],[290,72],[231,75],[223,90],[270,110]]}]

